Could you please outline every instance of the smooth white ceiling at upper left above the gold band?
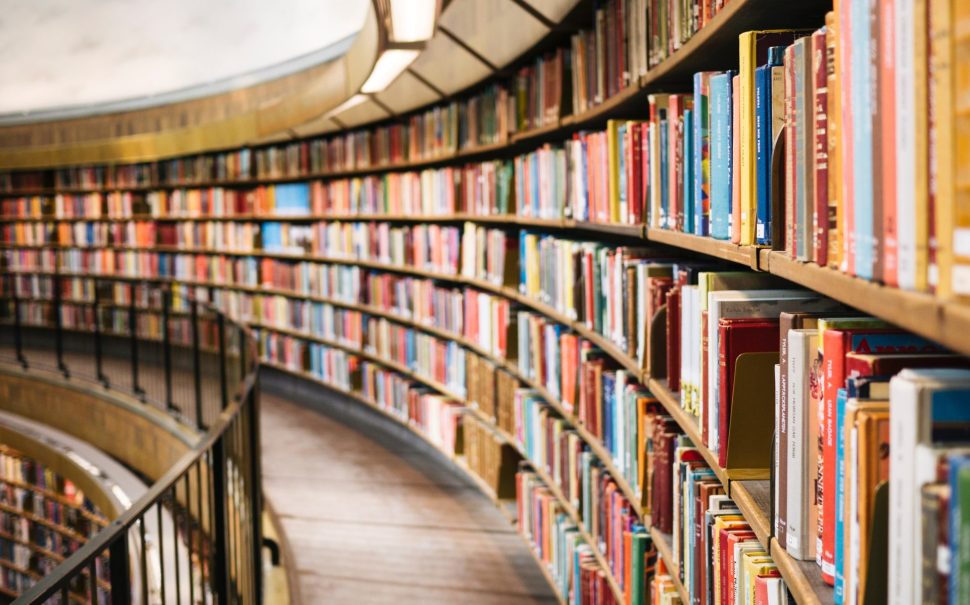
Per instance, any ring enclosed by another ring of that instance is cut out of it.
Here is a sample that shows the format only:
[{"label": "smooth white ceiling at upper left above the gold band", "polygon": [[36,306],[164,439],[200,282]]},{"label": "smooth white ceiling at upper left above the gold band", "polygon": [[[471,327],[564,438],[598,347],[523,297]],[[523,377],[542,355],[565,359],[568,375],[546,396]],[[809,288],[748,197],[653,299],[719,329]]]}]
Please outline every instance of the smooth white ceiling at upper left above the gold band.
[{"label": "smooth white ceiling at upper left above the gold band", "polygon": [[136,109],[278,77],[345,52],[369,2],[0,0],[0,115]]}]

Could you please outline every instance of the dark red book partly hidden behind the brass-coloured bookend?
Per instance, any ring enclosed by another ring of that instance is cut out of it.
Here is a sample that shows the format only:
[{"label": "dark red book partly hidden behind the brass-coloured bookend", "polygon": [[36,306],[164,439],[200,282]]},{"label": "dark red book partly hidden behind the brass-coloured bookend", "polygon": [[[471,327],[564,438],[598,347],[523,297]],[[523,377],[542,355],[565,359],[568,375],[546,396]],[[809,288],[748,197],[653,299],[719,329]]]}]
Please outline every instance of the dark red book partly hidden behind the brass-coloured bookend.
[{"label": "dark red book partly hidden behind the brass-coloured bookend", "polygon": [[728,434],[731,428],[731,395],[734,393],[734,372],[738,356],[744,353],[778,351],[777,319],[721,319],[718,322],[719,397],[718,464],[727,466]]}]

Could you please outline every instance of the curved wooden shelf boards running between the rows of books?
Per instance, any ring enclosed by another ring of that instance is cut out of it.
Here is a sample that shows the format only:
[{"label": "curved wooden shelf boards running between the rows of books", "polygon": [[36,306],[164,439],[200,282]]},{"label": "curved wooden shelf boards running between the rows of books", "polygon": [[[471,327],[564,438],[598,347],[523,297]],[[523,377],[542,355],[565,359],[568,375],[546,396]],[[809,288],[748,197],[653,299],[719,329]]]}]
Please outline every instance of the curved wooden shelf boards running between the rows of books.
[{"label": "curved wooden shelf boards running between the rows of books", "polygon": [[[202,180],[196,182],[159,183],[133,187],[40,189],[30,192],[0,192],[0,198],[13,198],[35,194],[54,195],[57,193],[106,193],[115,191],[138,192],[201,187],[245,188],[258,185],[376,175],[386,172],[418,170],[435,166],[456,166],[473,159],[507,158],[514,154],[534,149],[535,146],[545,141],[562,141],[581,129],[602,125],[607,119],[610,118],[642,115],[645,110],[646,96],[649,92],[657,90],[677,90],[680,86],[689,81],[690,75],[695,71],[736,66],[737,36],[739,33],[749,29],[761,29],[766,27],[796,25],[812,22],[811,18],[820,15],[820,9],[825,8],[824,5],[824,2],[812,1],[799,3],[797,7],[793,7],[790,10],[786,8],[785,11],[780,11],[778,10],[777,3],[771,0],[731,0],[731,2],[728,2],[725,5],[725,8],[721,12],[717,13],[712,18],[705,28],[695,33],[694,36],[691,37],[679,50],[674,52],[659,65],[651,68],[646,76],[639,78],[631,86],[622,89],[618,92],[618,94],[604,100],[604,102],[599,105],[587,109],[586,111],[577,113],[575,115],[564,116],[555,120],[554,123],[540,128],[514,133],[507,141],[501,143],[459,149],[453,153],[449,152],[436,157],[408,162],[365,166],[347,170],[312,172],[295,176],[260,177],[239,180]],[[776,275],[790,282],[800,284],[808,289],[819,292],[829,298],[841,301],[849,306],[858,308],[877,317],[881,317],[916,334],[920,334],[931,340],[940,342],[956,352],[970,355],[970,340],[968,340],[965,336],[967,333],[970,333],[970,306],[968,305],[941,301],[931,294],[907,292],[896,288],[886,287],[878,283],[861,280],[829,268],[819,267],[811,263],[794,261],[782,252],[772,251],[764,247],[740,246],[708,237],[698,237],[674,231],[656,229],[645,224],[629,225],[594,223],[576,221],[569,218],[538,219],[518,215],[483,216],[465,213],[448,215],[436,214],[430,216],[417,214],[320,214],[306,216],[266,216],[251,214],[227,216],[136,215],[131,217],[97,218],[39,217],[23,219],[4,217],[0,219],[0,222],[30,223],[51,220],[68,223],[130,222],[137,220],[186,223],[205,221],[290,221],[299,223],[310,223],[316,221],[361,221],[389,223],[472,222],[482,225],[503,225],[549,232],[568,231],[570,233],[591,233],[596,234],[604,239],[622,237],[630,240],[631,243],[639,241],[641,244],[660,244],[690,252],[693,255],[698,255],[703,258],[727,261],[737,265],[738,267],[745,267],[751,270]],[[3,247],[7,249],[31,248],[30,246],[16,244],[4,244]],[[45,246],[38,245],[34,247],[43,248]],[[71,247],[84,248],[81,246]],[[89,248],[98,249],[99,247],[93,246]],[[286,254],[260,250],[228,251],[166,246],[118,247],[116,249],[169,253],[178,252],[200,255],[225,255],[232,257],[258,257],[286,261],[309,261],[359,266],[372,271],[411,275],[414,277],[431,279],[436,282],[476,288],[480,291],[503,297],[508,301],[521,305],[532,312],[538,313],[558,324],[561,324],[596,345],[606,355],[615,360],[620,367],[631,372],[634,376],[639,378],[643,385],[649,387],[651,393],[658,398],[660,403],[666,409],[667,413],[674,418],[684,433],[698,447],[701,455],[710,468],[714,471],[718,480],[724,486],[725,492],[728,493],[741,508],[742,513],[751,524],[758,540],[763,546],[765,546],[765,548],[769,549],[796,600],[799,603],[831,603],[833,601],[832,590],[821,582],[818,568],[813,563],[805,563],[791,559],[787,553],[785,553],[785,551],[778,546],[778,542],[772,536],[772,527],[769,517],[770,507],[768,505],[770,501],[770,494],[768,493],[769,488],[767,485],[768,482],[757,478],[730,476],[726,469],[721,468],[718,465],[717,456],[703,445],[694,417],[680,407],[679,396],[672,393],[667,388],[665,381],[656,377],[648,376],[643,371],[636,359],[628,355],[626,352],[620,350],[619,347],[610,341],[610,339],[592,329],[589,329],[583,323],[571,319],[568,314],[562,312],[561,310],[555,309],[554,307],[549,306],[541,301],[524,296],[516,289],[507,285],[500,285],[488,280],[464,276],[460,273],[444,273],[428,270],[426,268],[391,264],[374,259],[358,260],[345,257],[330,257],[310,254]],[[22,272],[28,273],[27,270],[23,270]],[[65,273],[37,271],[29,271],[29,273],[62,276],[68,275]],[[98,279],[103,280],[120,280],[129,282],[145,280],[144,277],[123,275],[89,276],[87,274],[71,274],[71,276],[82,278],[97,277]],[[423,322],[415,321],[414,319],[408,317],[403,317],[392,310],[382,309],[367,304],[349,303],[342,301],[339,298],[316,296],[294,290],[262,287],[259,285],[247,286],[242,284],[224,284],[181,278],[153,278],[153,280],[172,281],[190,286],[212,289],[236,290],[247,294],[279,295],[291,299],[326,303],[335,307],[356,310],[369,315],[382,317],[388,319],[389,321],[420,330],[438,338],[454,341],[465,349],[475,353],[479,357],[494,363],[496,367],[506,370],[512,376],[514,376],[519,383],[526,385],[538,393],[540,397],[546,401],[547,405],[555,410],[567,423],[572,425],[577,434],[579,434],[580,438],[588,445],[590,450],[597,456],[597,458],[600,459],[607,472],[609,472],[614,481],[617,482],[623,495],[634,506],[638,516],[643,518],[643,510],[640,503],[640,498],[635,493],[635,490],[624,480],[623,475],[618,472],[616,466],[613,464],[613,460],[609,452],[603,446],[603,443],[597,437],[592,435],[575,415],[567,412],[566,407],[562,404],[562,402],[558,401],[548,389],[523,375],[516,364],[490,353],[460,334],[455,334],[440,327],[427,325]],[[458,397],[453,392],[449,392],[446,385],[442,385],[434,380],[423,377],[411,371],[402,364],[384,359],[377,355],[373,355],[362,350],[361,348],[348,346],[346,343],[340,343],[338,341],[322,339],[300,330],[289,330],[273,325],[262,324],[260,322],[254,322],[253,325],[260,329],[275,331],[281,334],[287,334],[296,338],[314,341],[329,347],[344,350],[348,353],[358,355],[361,358],[393,370],[404,377],[412,379],[416,382],[420,382],[446,396],[459,400],[464,399],[463,397]],[[286,372],[299,375],[307,380],[327,384],[320,381],[316,377],[309,376],[305,372],[296,372],[292,368],[287,368],[275,363],[270,363],[269,365],[282,369]],[[332,385],[331,388],[333,388]],[[341,393],[346,394],[344,391],[341,391]],[[375,406],[373,403],[365,400],[359,395],[350,393],[350,396],[355,397],[361,402],[380,410],[396,421],[402,422],[393,414],[390,414],[379,406]],[[473,413],[480,422],[484,423],[487,421],[491,424],[491,427],[495,431],[499,431],[499,434],[504,433],[504,431],[495,425],[493,420],[488,419],[484,416],[484,414],[478,412]],[[410,428],[413,432],[420,434],[419,431],[416,431],[414,427],[410,427],[406,422],[402,423],[405,426],[408,426],[408,428]],[[516,440],[511,435],[504,433],[503,438],[507,443],[515,447],[520,454],[524,454],[522,448],[516,443]],[[523,457],[525,456],[523,455]],[[533,466],[538,467],[540,465]],[[465,470],[467,471],[467,469]],[[537,474],[539,474],[541,477],[542,473],[540,471],[541,469],[536,468]],[[550,488],[558,490],[558,487],[555,486],[554,483],[550,483],[548,481],[546,481],[546,483],[550,485]],[[568,505],[568,502],[566,502],[561,496],[562,495],[560,493],[557,496],[557,499],[561,500],[564,505]],[[567,512],[568,511],[569,509],[567,509]],[[570,516],[575,520],[575,510],[572,511]],[[648,519],[646,520],[648,521]],[[581,523],[578,523],[578,525],[581,526]],[[665,562],[667,562],[668,567],[674,571],[672,576],[674,577],[674,583],[678,589],[678,592],[681,594],[681,597],[686,600],[686,591],[684,590],[683,585],[677,579],[677,574],[675,572],[676,566],[674,565],[674,560],[672,557],[670,536],[660,534],[656,530],[652,530],[651,533],[653,534],[654,542],[657,544],[660,556],[665,560]],[[599,556],[602,558],[601,553]],[[611,587],[614,588],[615,592],[617,589],[615,579],[613,579]]]}]

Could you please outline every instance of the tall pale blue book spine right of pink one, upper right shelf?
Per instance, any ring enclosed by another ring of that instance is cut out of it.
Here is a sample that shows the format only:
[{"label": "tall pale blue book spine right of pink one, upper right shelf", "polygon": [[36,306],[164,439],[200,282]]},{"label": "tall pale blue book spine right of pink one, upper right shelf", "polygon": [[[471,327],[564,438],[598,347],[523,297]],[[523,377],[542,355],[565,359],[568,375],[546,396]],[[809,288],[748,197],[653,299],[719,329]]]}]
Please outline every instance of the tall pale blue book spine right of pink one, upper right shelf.
[{"label": "tall pale blue book spine right of pink one, upper right shelf", "polygon": [[[869,40],[869,3],[850,4],[850,39]],[[844,204],[853,216],[855,233],[855,274],[872,279],[873,271],[873,175],[872,175],[872,98],[873,74],[870,48],[867,44],[852,44],[849,49],[852,66],[852,159],[855,164],[852,177],[852,203]],[[850,239],[851,246],[851,239]],[[850,250],[850,255],[853,252]]]}]

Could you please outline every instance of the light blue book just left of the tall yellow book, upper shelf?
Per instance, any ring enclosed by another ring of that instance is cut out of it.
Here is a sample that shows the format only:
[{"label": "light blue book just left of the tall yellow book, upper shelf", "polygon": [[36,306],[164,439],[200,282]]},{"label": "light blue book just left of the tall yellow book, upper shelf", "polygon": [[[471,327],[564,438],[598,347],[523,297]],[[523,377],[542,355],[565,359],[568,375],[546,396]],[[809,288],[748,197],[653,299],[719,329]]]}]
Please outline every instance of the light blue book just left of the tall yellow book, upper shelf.
[{"label": "light blue book just left of the tall yellow book, upper shelf", "polygon": [[731,78],[734,71],[711,77],[711,212],[710,231],[715,239],[731,239],[732,120]]}]

